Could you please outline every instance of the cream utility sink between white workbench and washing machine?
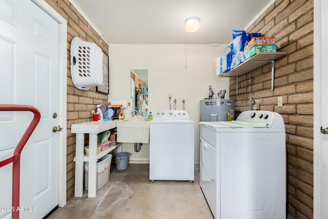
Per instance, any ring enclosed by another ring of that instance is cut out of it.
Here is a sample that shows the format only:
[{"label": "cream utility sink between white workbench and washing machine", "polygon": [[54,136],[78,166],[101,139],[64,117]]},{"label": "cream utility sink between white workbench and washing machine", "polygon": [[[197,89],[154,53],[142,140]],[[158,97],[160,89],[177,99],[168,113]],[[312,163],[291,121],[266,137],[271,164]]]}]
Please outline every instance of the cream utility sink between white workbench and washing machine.
[{"label": "cream utility sink between white workbench and washing machine", "polygon": [[134,118],[116,123],[117,142],[149,143],[149,122]]}]

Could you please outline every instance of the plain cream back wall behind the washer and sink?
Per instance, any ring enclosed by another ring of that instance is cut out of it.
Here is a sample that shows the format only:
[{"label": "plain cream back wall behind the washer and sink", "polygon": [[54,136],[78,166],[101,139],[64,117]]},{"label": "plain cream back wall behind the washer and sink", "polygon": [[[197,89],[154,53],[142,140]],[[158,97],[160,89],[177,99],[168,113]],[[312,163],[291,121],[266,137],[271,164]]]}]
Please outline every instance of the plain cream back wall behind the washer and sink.
[{"label": "plain cream back wall behind the washer and sink", "polygon": [[[227,90],[226,98],[229,98],[229,78],[215,76],[215,58],[222,56],[227,46],[187,44],[186,49],[184,44],[110,44],[108,102],[130,102],[131,69],[148,69],[149,110],[170,109],[169,93],[177,99],[178,110],[182,110],[181,101],[185,99],[186,111],[195,121],[195,161],[198,162],[199,101],[208,98],[209,85],[216,93]],[[131,118],[130,108],[124,113]],[[124,144],[123,151],[132,153],[132,162],[149,161],[148,144],[141,146],[138,153],[134,152],[133,144]]]}]

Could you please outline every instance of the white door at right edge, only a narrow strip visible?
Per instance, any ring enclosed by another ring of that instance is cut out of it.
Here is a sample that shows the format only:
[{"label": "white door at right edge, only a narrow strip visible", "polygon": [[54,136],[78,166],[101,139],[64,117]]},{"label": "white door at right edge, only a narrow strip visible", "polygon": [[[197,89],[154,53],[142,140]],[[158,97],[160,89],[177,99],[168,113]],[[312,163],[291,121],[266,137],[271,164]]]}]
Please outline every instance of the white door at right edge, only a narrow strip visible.
[{"label": "white door at right edge, only a narrow strip visible", "polygon": [[328,2],[314,1],[314,218],[328,218]]}]

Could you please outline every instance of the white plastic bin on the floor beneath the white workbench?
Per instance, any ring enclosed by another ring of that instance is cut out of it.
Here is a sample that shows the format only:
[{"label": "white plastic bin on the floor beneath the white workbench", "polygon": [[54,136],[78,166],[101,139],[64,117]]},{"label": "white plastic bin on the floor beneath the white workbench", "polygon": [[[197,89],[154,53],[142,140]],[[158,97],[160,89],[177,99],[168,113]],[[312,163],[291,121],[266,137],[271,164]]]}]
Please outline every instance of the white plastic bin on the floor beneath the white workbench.
[{"label": "white plastic bin on the floor beneath the white workbench", "polygon": [[[97,162],[97,190],[105,186],[109,181],[112,154],[106,154]],[[88,190],[89,162],[84,162],[84,186]]]}]

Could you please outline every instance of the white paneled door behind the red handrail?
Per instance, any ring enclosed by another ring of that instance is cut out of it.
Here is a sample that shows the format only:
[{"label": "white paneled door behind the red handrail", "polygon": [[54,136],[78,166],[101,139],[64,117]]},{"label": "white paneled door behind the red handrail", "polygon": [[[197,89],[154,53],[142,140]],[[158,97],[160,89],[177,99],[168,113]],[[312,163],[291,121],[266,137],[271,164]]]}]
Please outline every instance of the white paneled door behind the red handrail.
[{"label": "white paneled door behind the red handrail", "polygon": [[[20,157],[21,218],[42,218],[58,205],[59,25],[31,1],[0,1],[0,104],[38,108],[41,119]],[[30,112],[1,112],[0,161],[32,119]],[[0,168],[0,217],[10,217],[12,164]]]}]

